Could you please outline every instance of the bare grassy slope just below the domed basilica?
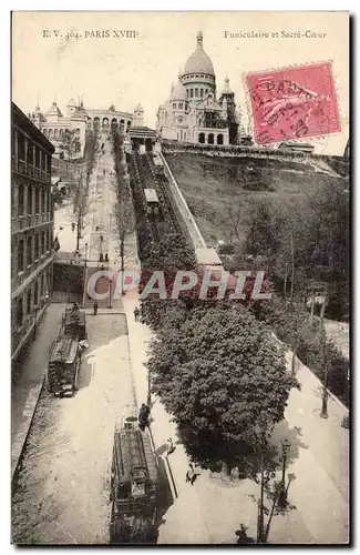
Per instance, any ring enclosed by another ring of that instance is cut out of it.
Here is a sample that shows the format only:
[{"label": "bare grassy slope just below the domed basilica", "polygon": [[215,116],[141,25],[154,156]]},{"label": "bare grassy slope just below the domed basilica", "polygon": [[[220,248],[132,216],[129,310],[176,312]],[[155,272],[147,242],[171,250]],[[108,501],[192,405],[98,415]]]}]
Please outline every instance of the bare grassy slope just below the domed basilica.
[{"label": "bare grassy slope just below the domed basilica", "polygon": [[337,180],[311,159],[280,162],[188,152],[164,155],[208,246],[234,238],[230,212],[239,215],[241,239],[254,199],[301,204],[316,186]]}]

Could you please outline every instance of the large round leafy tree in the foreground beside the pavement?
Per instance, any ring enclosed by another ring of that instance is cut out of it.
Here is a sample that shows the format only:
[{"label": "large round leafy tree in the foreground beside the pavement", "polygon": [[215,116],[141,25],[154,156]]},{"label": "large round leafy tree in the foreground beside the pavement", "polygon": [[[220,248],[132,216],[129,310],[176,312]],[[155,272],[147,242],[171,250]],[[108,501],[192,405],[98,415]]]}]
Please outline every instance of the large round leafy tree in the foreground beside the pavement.
[{"label": "large round leafy tree in the foreground beside the pavement", "polygon": [[198,306],[177,314],[152,345],[153,392],[174,415],[189,455],[209,466],[254,457],[256,423],[284,418],[290,387],[284,356],[240,306]]}]

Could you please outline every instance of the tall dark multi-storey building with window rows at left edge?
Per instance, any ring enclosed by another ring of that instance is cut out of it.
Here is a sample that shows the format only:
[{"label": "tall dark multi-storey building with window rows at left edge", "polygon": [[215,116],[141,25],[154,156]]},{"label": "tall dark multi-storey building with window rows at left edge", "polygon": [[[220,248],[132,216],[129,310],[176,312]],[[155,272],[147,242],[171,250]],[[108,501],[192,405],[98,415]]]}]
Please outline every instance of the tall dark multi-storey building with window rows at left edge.
[{"label": "tall dark multi-storey building with window rows at left edge", "polygon": [[52,284],[54,147],[11,105],[11,357],[18,356]]}]

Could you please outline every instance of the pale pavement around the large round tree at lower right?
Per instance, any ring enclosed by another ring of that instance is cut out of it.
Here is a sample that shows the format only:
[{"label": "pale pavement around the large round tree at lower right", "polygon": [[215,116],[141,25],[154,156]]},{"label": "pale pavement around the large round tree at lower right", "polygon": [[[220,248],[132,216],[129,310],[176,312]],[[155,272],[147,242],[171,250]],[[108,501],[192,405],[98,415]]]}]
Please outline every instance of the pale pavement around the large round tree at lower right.
[{"label": "pale pavement around the large round tree at lower right", "polygon": [[[134,322],[133,311],[138,305],[136,292],[127,293],[123,305],[141,404],[147,397],[144,363],[152,332]],[[288,352],[289,371],[290,365]],[[299,362],[297,377],[301,391],[291,391],[286,420],[276,426],[272,437],[278,447],[285,437],[291,443],[287,473],[296,475],[289,490],[289,501],[296,509],[274,518],[269,541],[272,544],[344,544],[349,538],[349,432],[341,427],[341,421],[347,410],[330,397],[329,417],[321,418],[320,382]],[[164,515],[158,543],[234,544],[234,533],[241,522],[249,527],[249,535],[256,537],[257,507],[249,496],[258,496],[259,487],[248,480],[223,481],[209,471],[202,471],[193,487],[186,484],[187,456],[177,443],[174,423],[156,397],[152,407],[152,433],[160,455],[165,452],[168,437],[176,446],[168,462],[178,497]]]}]

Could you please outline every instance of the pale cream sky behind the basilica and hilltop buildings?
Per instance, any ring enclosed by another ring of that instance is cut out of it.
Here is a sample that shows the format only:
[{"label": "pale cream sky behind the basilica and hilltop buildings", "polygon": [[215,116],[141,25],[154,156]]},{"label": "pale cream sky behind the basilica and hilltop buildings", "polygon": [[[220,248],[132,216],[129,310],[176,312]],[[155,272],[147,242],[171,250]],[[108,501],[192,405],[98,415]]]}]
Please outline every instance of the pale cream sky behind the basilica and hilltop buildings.
[{"label": "pale cream sky behind the basilica and hilltop buildings", "polygon": [[[38,99],[43,112],[55,100],[63,113],[72,97],[83,97],[85,108],[124,111],[140,102],[154,128],[202,30],[217,91],[228,75],[246,125],[246,73],[332,61],[341,132],[312,142],[316,152],[339,155],[349,137],[348,27],[347,12],[14,12],[12,99],[25,113]],[[137,36],[115,36],[124,31]],[[316,37],[297,37],[306,31]]]}]

